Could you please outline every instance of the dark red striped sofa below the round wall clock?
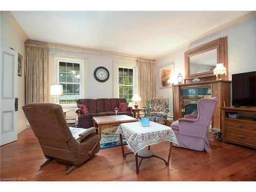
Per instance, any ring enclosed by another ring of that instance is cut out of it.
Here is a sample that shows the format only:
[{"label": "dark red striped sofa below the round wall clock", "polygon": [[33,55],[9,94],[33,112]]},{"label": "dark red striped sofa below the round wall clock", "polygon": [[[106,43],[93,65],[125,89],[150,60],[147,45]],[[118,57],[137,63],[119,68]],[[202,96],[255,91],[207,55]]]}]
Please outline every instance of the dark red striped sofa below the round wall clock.
[{"label": "dark red striped sofa below the round wall clock", "polygon": [[[119,103],[122,102],[127,102],[127,100],[122,98],[78,99],[77,104],[86,104],[89,113],[82,114],[80,110],[77,110],[77,127],[87,129],[93,126],[93,117],[115,115],[115,108],[118,108]],[[117,115],[133,116],[132,108],[128,107],[126,112],[117,112]]]}]

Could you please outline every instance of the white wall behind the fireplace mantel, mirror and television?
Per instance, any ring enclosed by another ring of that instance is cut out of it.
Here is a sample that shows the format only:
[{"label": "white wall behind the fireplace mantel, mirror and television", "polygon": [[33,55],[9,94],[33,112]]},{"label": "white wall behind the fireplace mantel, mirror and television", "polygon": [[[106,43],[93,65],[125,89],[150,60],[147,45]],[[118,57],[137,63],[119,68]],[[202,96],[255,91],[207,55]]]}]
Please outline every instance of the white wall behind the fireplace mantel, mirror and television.
[{"label": "white wall behind the fireplace mantel, mirror and television", "polygon": [[172,88],[159,88],[158,69],[174,62],[175,84],[177,84],[178,73],[181,73],[183,78],[185,75],[184,52],[211,40],[225,36],[228,38],[228,79],[232,80],[232,74],[256,71],[256,19],[250,20],[249,22],[230,28],[182,50],[178,50],[162,58],[156,59],[156,95],[170,98],[170,112],[173,112]]}]

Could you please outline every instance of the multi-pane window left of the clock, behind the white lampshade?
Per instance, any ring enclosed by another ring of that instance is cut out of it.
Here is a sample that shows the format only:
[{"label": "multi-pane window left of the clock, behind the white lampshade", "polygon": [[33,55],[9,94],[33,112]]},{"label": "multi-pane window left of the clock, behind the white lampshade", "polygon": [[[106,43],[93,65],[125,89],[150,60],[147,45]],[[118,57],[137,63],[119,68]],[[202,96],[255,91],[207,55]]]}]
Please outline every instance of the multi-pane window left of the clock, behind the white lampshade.
[{"label": "multi-pane window left of the clock, behind the white lampshade", "polygon": [[59,83],[63,85],[63,96],[59,97],[60,104],[75,104],[80,96],[80,69],[77,61],[58,61]]}]

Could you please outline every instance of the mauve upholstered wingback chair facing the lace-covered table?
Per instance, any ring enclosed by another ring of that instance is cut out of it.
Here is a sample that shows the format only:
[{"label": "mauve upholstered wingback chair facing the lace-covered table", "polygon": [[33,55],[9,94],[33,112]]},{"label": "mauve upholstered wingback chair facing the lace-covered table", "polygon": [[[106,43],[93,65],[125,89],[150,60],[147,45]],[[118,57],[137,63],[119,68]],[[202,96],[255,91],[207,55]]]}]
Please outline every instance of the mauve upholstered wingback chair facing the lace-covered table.
[{"label": "mauve upholstered wingback chair facing the lace-covered table", "polygon": [[[174,121],[172,127],[180,147],[189,148],[197,151],[210,151],[208,127],[217,97],[203,98],[198,101],[198,115],[185,115],[184,118]],[[177,144],[173,144],[178,146]]]}]

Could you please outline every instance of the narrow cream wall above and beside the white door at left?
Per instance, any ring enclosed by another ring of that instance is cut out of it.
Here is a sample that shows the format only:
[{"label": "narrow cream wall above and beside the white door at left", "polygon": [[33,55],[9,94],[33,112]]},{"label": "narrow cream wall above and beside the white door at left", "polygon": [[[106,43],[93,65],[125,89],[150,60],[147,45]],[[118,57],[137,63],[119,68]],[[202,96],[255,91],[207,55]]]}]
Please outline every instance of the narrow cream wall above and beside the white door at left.
[{"label": "narrow cream wall above and beside the white door at left", "polygon": [[22,76],[18,76],[18,133],[26,128],[26,117],[22,110],[25,105],[24,41],[28,39],[23,29],[9,11],[1,11],[1,41],[23,56]]}]

